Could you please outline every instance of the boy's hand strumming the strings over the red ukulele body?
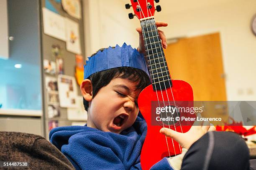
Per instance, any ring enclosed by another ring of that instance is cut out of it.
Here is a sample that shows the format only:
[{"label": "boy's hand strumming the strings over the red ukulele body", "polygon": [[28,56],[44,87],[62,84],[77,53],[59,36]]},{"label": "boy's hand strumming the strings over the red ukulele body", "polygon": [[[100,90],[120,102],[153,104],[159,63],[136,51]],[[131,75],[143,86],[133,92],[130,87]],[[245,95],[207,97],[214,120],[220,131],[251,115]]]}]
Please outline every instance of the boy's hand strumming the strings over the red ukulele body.
[{"label": "boy's hand strumming the strings over the red ukulele body", "polygon": [[[199,115],[198,117],[200,117]],[[216,128],[208,121],[195,121],[189,131],[186,133],[179,133],[168,128],[161,128],[160,133],[167,137],[176,140],[182,148],[189,149],[189,147],[201,138],[208,131],[215,131]]]}]

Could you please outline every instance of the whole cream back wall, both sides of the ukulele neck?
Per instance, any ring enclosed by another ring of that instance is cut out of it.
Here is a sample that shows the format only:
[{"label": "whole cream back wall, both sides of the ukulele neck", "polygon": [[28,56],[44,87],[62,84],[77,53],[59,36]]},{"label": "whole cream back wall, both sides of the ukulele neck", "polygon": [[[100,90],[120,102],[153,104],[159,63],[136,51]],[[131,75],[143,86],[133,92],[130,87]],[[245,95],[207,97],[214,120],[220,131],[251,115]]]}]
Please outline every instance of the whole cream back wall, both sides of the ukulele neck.
[{"label": "whole cream back wall, both sides of the ukulele neck", "polygon": [[[128,42],[136,47],[139,22],[128,19],[129,0],[84,0],[86,56],[101,47]],[[256,37],[250,23],[255,0],[161,0],[156,21],[169,23],[167,38],[220,32],[228,100],[256,100]],[[90,44],[90,45],[89,45]]]}]

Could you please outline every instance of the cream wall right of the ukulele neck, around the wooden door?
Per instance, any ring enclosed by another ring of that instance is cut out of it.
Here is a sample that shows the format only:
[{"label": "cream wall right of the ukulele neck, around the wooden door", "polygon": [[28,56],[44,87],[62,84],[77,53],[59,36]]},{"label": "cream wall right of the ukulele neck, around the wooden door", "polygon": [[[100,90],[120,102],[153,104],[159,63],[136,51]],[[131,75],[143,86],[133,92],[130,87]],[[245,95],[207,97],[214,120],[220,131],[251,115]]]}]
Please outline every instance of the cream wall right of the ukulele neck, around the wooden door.
[{"label": "cream wall right of the ukulele neck, around the wooden door", "polygon": [[[168,38],[220,32],[227,99],[256,100],[256,37],[250,30],[255,7],[255,0],[225,0],[207,7],[159,13],[156,19],[169,23],[163,29]],[[166,6],[162,10],[172,11]]]}]

